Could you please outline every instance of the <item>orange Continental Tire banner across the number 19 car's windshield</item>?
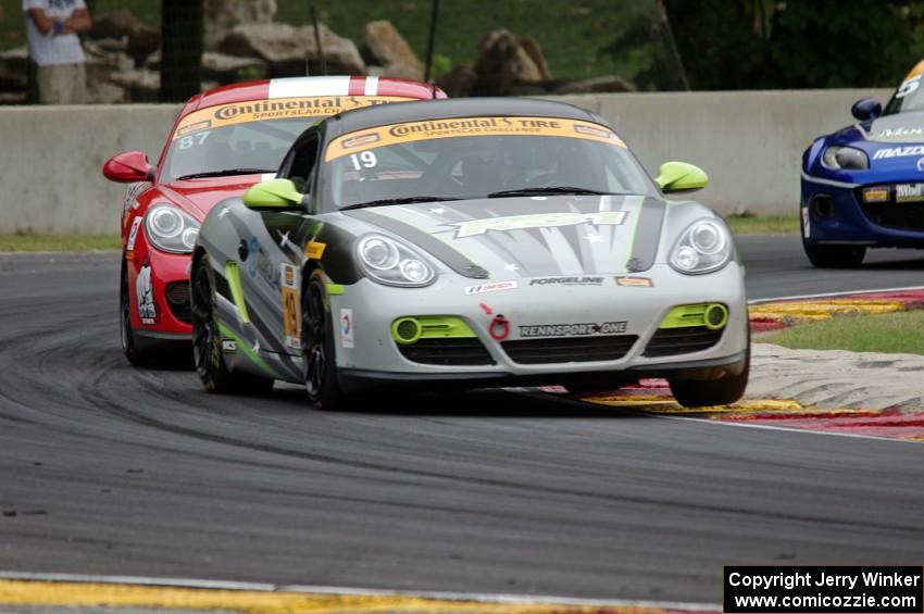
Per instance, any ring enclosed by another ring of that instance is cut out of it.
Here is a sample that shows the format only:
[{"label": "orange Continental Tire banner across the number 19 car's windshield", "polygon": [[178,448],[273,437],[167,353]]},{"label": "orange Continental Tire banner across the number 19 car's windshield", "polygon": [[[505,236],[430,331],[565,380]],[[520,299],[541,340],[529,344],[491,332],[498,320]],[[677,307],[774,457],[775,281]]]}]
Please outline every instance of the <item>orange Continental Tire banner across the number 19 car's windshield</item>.
[{"label": "orange Continental Tire banner across the number 19 car's windshield", "polygon": [[454,137],[540,136],[579,138],[625,148],[626,145],[607,126],[559,117],[459,117],[392,124],[337,137],[327,146],[324,160],[367,149]]}]

